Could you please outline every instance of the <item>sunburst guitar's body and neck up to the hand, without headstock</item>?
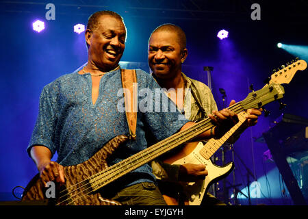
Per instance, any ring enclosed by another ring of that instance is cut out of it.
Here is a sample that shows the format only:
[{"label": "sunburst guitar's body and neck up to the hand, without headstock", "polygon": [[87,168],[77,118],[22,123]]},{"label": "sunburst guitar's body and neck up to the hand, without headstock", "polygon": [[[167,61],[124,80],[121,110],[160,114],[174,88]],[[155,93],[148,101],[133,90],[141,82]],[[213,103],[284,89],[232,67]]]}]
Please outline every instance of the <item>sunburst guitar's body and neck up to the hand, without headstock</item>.
[{"label": "sunburst guitar's body and neck up to the hand, without headstock", "polygon": [[[229,139],[232,134],[244,123],[246,120],[246,112],[238,113],[239,121],[220,139],[211,138],[206,144],[203,142],[190,142],[185,144],[183,149],[173,157],[169,157],[164,162],[168,164],[205,164],[208,175],[204,180],[196,182],[179,182],[183,186],[183,193],[188,198],[185,205],[200,205],[205,192],[207,192],[209,185],[227,177],[233,170],[234,164],[230,162],[225,166],[217,166],[211,162],[211,156]],[[164,196],[168,203],[169,197]],[[187,203],[188,202],[188,203]],[[170,202],[172,203],[172,202]]]}]

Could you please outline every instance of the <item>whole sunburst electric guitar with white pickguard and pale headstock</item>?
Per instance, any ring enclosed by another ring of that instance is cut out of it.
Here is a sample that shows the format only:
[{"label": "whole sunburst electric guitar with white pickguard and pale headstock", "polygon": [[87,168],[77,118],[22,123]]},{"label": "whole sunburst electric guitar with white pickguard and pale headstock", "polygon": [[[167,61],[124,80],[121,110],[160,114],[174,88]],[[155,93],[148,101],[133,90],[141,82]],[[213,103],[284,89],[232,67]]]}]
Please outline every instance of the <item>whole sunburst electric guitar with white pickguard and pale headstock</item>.
[{"label": "whole sunburst electric guitar with white pickguard and pale headstock", "polygon": [[[294,60],[287,66],[282,66],[281,70],[274,72],[270,78],[268,78],[266,86],[275,86],[274,84],[290,83],[297,70],[304,70],[307,67],[307,63],[304,60]],[[253,94],[255,95],[255,94]],[[209,185],[219,181],[220,179],[227,177],[233,170],[234,164],[230,162],[225,166],[216,166],[211,162],[210,157],[224,144],[232,134],[238,130],[238,128],[244,123],[246,112],[242,111],[238,114],[239,121],[234,125],[227,133],[220,139],[211,139],[206,144],[203,142],[191,142],[185,144],[183,149],[176,155],[164,159],[167,164],[205,164],[208,171],[208,175],[204,180],[196,182],[179,182],[183,190],[183,194],[186,197],[184,200],[185,205],[200,205],[204,194],[207,192]],[[163,194],[164,199],[168,205],[179,205],[179,201],[176,197]]]}]

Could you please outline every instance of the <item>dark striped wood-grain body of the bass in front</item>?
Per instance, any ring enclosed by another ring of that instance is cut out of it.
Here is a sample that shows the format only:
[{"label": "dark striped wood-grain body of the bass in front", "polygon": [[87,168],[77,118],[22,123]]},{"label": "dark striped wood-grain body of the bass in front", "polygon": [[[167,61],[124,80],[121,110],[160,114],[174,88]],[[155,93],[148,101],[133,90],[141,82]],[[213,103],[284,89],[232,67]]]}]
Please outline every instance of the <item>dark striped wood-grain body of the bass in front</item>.
[{"label": "dark striped wood-grain body of the bass in front", "polygon": [[[77,164],[75,166],[64,166],[65,183],[60,190],[64,192],[57,192],[53,204],[55,205],[120,205],[116,201],[111,201],[101,197],[99,192],[92,194],[91,184],[88,179],[107,168],[105,161],[112,152],[123,142],[127,140],[127,136],[116,136],[110,142],[107,142],[102,149],[95,153],[86,162]],[[48,189],[48,188],[47,188]],[[46,198],[44,188],[39,175],[36,175],[28,183],[23,192],[22,201],[50,201],[52,199]]]}]

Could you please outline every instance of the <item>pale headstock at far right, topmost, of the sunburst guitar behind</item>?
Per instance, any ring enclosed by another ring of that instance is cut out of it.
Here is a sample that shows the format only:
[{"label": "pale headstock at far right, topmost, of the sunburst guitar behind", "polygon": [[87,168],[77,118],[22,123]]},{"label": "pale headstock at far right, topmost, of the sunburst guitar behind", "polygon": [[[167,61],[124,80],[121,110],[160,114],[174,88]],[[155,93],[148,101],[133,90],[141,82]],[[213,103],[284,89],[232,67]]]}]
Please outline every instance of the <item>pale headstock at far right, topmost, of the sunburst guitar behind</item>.
[{"label": "pale headstock at far right, topmost, of the sunburst guitar behind", "polygon": [[275,70],[274,74],[270,77],[269,83],[290,83],[296,71],[305,70],[306,68],[307,62],[296,57],[295,60],[287,62],[286,66],[282,65],[280,70]]}]

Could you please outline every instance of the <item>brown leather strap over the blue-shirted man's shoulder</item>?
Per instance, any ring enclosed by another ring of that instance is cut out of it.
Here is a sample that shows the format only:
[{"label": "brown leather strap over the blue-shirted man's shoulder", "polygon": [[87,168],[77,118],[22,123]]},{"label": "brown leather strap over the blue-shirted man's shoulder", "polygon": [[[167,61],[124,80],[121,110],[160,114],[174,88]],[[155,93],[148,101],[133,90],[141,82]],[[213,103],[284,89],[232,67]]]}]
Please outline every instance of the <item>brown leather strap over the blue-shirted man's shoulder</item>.
[{"label": "brown leather strap over the blue-shirted man's shoulder", "polygon": [[137,77],[134,69],[121,69],[125,114],[129,125],[129,137],[136,139],[137,126]]}]

